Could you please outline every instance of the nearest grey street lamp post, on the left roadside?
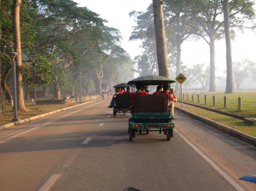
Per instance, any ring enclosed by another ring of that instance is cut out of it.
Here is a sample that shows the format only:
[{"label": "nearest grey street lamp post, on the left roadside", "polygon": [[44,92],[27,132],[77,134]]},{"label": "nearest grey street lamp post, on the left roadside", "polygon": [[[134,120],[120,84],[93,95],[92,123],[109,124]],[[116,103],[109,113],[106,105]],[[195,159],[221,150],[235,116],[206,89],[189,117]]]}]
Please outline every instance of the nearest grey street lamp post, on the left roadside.
[{"label": "nearest grey street lamp post, on the left roadside", "polygon": [[16,64],[14,58],[18,55],[17,52],[10,52],[9,55],[12,57],[12,87],[13,87],[13,111],[14,118],[12,121],[18,121],[17,111],[17,82],[16,82]]}]

